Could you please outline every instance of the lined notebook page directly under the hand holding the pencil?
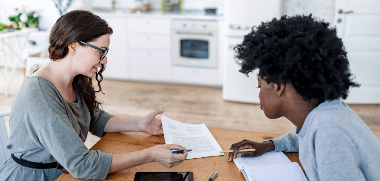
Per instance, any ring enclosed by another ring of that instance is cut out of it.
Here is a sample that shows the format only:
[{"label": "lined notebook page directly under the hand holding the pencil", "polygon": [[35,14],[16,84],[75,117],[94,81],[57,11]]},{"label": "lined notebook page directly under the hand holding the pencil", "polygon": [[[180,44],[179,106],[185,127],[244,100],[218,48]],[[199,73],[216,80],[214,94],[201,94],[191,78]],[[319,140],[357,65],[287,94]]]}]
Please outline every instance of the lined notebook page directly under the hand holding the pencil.
[{"label": "lined notebook page directly under the hand holding the pencil", "polygon": [[282,151],[270,151],[258,157],[236,157],[236,159],[233,161],[239,169],[239,172],[241,172],[241,168],[244,166],[291,163],[291,161],[284,153],[282,153]]}]

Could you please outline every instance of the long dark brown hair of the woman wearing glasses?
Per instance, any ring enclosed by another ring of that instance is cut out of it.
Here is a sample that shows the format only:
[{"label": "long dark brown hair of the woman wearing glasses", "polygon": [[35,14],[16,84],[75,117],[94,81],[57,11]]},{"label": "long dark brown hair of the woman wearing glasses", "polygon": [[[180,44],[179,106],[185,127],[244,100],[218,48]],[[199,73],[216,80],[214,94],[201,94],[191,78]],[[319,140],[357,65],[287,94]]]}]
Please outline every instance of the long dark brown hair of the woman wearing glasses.
[{"label": "long dark brown hair of the woman wearing glasses", "polygon": [[[112,34],[112,28],[99,16],[89,11],[71,11],[61,16],[55,22],[49,37],[49,58],[53,61],[65,57],[68,53],[68,46],[74,42],[95,41],[102,35]],[[79,43],[81,46],[85,46]],[[101,92],[100,82],[103,80],[101,72],[106,66],[101,64],[100,71],[95,74],[98,81],[99,90],[95,91],[92,86],[92,78],[84,75],[74,77],[74,90],[84,98],[87,108],[92,112],[99,107],[101,102],[96,100],[95,93]],[[98,74],[100,80],[98,80]]]}]

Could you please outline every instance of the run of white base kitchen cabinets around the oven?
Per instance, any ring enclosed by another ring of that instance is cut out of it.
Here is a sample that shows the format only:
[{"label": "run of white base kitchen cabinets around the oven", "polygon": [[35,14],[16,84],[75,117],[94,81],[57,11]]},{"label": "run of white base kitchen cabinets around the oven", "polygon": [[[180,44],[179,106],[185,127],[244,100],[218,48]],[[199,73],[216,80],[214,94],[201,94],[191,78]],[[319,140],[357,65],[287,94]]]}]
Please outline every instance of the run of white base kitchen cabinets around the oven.
[{"label": "run of white base kitchen cabinets around the oven", "polygon": [[[111,35],[110,51],[107,54],[106,71],[103,72],[105,79],[211,86],[222,84],[219,62],[215,68],[173,66],[172,22],[178,17],[173,18],[171,15],[166,17],[163,14],[149,16],[98,14],[98,16],[105,19],[114,31]],[[193,16],[191,18],[189,16],[187,21],[190,22],[192,18]],[[218,29],[217,20],[207,19],[210,16],[200,18],[204,18],[200,22],[212,22],[211,27]],[[192,19],[191,22],[196,20]],[[180,25],[182,27],[182,24]],[[207,26],[206,29],[211,27]]]}]

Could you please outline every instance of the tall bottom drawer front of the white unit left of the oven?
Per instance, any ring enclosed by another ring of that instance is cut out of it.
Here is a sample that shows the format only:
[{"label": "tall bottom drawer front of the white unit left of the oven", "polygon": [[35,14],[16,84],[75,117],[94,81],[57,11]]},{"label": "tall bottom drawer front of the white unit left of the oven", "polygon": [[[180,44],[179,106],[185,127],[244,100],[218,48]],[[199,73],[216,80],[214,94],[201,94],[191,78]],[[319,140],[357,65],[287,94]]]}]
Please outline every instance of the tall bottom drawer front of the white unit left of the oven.
[{"label": "tall bottom drawer front of the white unit left of the oven", "polygon": [[169,81],[171,61],[169,51],[130,50],[131,78]]}]

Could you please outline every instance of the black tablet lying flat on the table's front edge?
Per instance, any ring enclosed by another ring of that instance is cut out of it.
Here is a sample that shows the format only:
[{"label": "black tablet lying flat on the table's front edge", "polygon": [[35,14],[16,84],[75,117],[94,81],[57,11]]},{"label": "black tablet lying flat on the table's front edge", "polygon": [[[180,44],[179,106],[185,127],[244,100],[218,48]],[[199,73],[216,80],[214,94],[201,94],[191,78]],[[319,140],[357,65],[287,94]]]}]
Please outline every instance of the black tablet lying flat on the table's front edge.
[{"label": "black tablet lying flat on the table's front edge", "polygon": [[193,172],[137,172],[134,181],[193,181]]}]

